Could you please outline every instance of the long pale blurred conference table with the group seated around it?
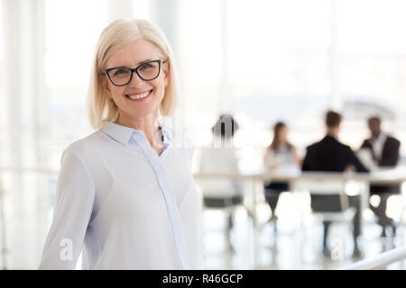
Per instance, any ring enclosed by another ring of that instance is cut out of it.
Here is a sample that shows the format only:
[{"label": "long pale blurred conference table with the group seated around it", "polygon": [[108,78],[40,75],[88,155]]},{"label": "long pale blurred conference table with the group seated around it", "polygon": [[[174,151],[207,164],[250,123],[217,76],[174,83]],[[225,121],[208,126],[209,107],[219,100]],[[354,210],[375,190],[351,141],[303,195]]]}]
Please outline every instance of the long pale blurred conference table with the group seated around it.
[{"label": "long pale blurred conference table with the group seated around it", "polygon": [[[254,265],[257,263],[257,233],[258,233],[258,216],[257,207],[258,199],[263,193],[263,184],[265,182],[288,182],[292,193],[297,193],[299,183],[326,183],[326,182],[353,182],[358,184],[356,193],[361,197],[361,209],[369,207],[369,187],[370,184],[403,184],[406,182],[406,166],[397,166],[394,168],[375,168],[370,173],[355,173],[355,172],[301,172],[297,169],[285,170],[278,173],[272,173],[258,169],[257,171],[246,171],[239,174],[225,173],[195,173],[195,180],[199,179],[232,179],[240,181],[248,181],[252,184],[251,196],[253,199],[253,224],[254,224]],[[303,185],[300,185],[302,188]],[[364,217],[361,213],[361,234],[364,227]]]}]

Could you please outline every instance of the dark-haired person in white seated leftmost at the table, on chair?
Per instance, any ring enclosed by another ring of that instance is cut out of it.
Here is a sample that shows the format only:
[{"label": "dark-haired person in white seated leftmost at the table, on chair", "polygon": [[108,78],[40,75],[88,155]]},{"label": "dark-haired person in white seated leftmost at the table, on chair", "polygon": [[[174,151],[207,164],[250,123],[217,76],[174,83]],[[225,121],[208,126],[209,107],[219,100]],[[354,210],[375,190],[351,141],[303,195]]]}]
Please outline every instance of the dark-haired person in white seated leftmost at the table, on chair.
[{"label": "dark-haired person in white seated leftmost at the table, on chair", "polygon": [[[238,158],[233,139],[238,123],[229,114],[220,115],[212,127],[213,145],[200,149],[198,171],[200,173],[239,174]],[[233,227],[235,206],[243,203],[243,185],[235,179],[217,178],[198,181],[203,192],[203,203],[207,208],[225,208],[227,213],[226,240],[228,248],[230,230]]]}]

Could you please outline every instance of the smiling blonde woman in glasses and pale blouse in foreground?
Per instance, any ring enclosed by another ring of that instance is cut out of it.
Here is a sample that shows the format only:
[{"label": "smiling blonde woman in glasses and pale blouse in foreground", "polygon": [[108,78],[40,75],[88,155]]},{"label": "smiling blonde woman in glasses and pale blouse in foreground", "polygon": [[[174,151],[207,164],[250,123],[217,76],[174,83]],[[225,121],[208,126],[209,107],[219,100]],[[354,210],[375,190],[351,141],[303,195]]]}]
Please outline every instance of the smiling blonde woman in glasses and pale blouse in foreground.
[{"label": "smiling blonde woman in glasses and pale blouse in foreground", "polygon": [[177,94],[158,28],[119,20],[102,31],[88,94],[96,131],[63,152],[40,268],[74,269],[81,251],[84,269],[201,267],[193,149],[161,121]]}]

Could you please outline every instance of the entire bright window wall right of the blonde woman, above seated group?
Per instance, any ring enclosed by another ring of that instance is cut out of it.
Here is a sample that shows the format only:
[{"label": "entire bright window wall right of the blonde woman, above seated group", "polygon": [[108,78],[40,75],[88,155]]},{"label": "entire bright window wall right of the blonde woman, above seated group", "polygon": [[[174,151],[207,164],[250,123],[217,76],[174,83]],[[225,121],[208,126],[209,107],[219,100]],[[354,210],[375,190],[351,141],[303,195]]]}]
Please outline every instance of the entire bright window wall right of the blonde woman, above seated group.
[{"label": "entire bright window wall right of the blonde woman, above seated group", "polygon": [[374,113],[406,142],[403,1],[180,5],[179,23],[188,23],[179,27],[185,123],[198,144],[208,143],[218,113],[232,112],[242,121],[239,146],[267,145],[267,129],[286,121],[303,154],[323,136],[328,108],[343,112],[340,137],[355,149],[368,136],[366,118]]}]

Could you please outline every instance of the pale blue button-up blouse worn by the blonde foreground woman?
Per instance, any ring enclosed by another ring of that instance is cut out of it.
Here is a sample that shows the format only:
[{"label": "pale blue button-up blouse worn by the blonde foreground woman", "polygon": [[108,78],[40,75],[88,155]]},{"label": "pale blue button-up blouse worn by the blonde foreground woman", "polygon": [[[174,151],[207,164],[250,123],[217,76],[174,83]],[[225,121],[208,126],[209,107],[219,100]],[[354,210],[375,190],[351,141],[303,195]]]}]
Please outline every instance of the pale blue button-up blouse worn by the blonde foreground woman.
[{"label": "pale blue button-up blouse worn by the blonde foreground woman", "polygon": [[113,122],[63,152],[40,269],[201,269],[193,147],[161,125],[158,156],[142,130]]}]

